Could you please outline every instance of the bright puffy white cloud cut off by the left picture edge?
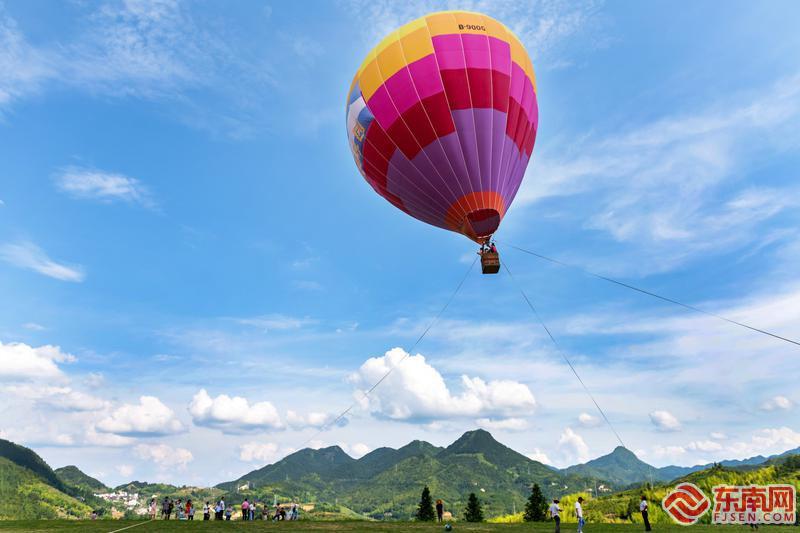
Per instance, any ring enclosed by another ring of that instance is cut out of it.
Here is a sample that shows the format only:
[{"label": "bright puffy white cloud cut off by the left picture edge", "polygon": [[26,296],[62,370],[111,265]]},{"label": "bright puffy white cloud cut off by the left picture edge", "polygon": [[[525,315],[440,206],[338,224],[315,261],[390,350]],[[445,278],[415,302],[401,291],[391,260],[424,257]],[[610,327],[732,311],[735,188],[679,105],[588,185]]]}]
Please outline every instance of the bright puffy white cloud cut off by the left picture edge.
[{"label": "bright puffy white cloud cut off by the left picture edge", "polygon": [[34,348],[21,342],[0,342],[0,380],[64,380],[56,363],[71,363],[75,357],[58,346]]}]

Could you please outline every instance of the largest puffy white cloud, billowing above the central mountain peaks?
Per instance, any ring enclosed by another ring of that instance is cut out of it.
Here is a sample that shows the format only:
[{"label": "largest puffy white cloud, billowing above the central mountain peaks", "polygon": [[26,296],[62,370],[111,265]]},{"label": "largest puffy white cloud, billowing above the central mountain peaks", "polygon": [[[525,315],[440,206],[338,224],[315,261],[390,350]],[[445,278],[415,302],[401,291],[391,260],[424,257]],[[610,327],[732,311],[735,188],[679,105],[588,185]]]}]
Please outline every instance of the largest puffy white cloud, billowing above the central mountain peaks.
[{"label": "largest puffy white cloud, billowing above the central mountain peaks", "polygon": [[[402,364],[401,364],[402,361]],[[364,399],[368,390],[390,369],[393,372]],[[486,382],[461,376],[461,394],[453,394],[442,375],[422,355],[394,348],[383,357],[368,359],[349,377],[356,397],[373,414],[393,420],[429,421],[449,417],[519,417],[536,407],[530,389],[510,380]]]}]

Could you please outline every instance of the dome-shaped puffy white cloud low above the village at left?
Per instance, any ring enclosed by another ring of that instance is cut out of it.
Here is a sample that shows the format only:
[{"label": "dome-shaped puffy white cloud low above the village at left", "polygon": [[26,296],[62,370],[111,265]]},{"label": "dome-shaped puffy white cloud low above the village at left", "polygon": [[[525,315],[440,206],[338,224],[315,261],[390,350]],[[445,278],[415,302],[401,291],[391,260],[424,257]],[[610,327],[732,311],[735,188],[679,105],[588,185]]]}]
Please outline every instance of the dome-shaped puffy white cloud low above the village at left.
[{"label": "dome-shaped puffy white cloud low above the village at left", "polygon": [[104,433],[130,437],[170,435],[183,431],[175,413],[155,396],[142,396],[138,404],[124,404],[97,424]]}]

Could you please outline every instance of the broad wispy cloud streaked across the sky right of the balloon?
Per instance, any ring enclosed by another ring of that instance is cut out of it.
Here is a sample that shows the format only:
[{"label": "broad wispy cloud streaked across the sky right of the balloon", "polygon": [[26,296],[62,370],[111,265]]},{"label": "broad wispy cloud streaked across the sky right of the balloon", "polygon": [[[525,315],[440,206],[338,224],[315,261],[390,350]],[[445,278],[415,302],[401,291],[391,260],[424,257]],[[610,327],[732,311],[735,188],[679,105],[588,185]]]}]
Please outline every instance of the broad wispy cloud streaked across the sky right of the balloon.
[{"label": "broad wispy cloud streaked across the sky right of the balloon", "polygon": [[574,223],[628,245],[617,248],[613,262],[586,259],[612,272],[670,270],[760,242],[762,222],[797,208],[797,188],[730,182],[796,144],[800,76],[751,94],[623,133],[588,135],[567,151],[564,143],[551,145],[558,151],[537,146],[516,205],[572,196],[571,211],[580,213]]}]

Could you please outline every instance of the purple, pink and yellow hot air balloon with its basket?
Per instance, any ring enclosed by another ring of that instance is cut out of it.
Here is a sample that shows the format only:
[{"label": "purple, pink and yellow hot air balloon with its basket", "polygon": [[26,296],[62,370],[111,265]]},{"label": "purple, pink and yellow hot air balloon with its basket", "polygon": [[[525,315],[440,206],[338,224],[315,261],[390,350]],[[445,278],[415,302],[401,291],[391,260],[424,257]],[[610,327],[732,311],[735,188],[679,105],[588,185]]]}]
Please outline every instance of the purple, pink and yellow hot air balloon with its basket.
[{"label": "purple, pink and yellow hot air balloon with its basket", "polygon": [[538,122],[522,43],[497,20],[466,11],[433,13],[390,33],[367,55],[347,98],[350,148],[373,189],[487,253],[522,183]]}]

